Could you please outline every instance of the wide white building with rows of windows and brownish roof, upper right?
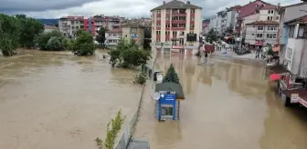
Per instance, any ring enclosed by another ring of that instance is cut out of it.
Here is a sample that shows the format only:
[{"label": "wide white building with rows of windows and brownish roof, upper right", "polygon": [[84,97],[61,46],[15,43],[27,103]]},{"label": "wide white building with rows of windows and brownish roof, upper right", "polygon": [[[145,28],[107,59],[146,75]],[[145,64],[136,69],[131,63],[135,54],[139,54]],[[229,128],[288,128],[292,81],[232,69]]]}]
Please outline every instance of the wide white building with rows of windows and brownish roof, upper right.
[{"label": "wide white building with rows of windows and brownish roof, upper right", "polygon": [[279,23],[275,21],[256,21],[246,24],[245,44],[262,47],[278,44]]}]

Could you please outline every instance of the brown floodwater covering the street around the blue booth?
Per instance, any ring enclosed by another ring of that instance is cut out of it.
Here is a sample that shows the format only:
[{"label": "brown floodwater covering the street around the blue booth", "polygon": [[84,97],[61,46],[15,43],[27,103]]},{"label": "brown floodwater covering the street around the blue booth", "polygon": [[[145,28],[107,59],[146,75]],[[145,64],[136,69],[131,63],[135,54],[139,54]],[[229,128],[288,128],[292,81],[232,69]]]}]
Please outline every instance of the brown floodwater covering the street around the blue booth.
[{"label": "brown floodwater covering the street around the blue booth", "polygon": [[[159,56],[156,68],[175,65],[185,92],[180,120],[157,122],[150,87],[135,138],[152,149],[306,149],[305,109],[286,108],[276,97],[263,66],[243,61]],[[238,62],[238,63],[234,63]]]}]

